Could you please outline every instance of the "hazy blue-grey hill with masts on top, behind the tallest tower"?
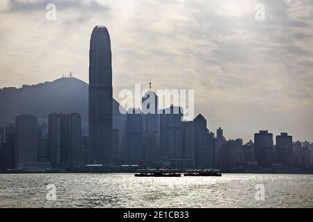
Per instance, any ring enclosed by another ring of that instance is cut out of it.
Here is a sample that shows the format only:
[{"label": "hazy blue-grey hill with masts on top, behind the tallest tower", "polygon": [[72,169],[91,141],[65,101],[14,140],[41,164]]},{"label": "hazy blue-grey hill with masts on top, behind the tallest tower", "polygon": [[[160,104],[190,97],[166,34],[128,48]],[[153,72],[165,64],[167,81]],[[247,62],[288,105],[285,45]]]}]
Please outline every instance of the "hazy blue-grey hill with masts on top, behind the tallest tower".
[{"label": "hazy blue-grey hill with masts on top, behind the tallest tower", "polygon": [[[118,107],[119,103],[113,99],[113,126],[118,124],[116,119],[123,119]],[[58,78],[38,85],[0,89],[0,126],[15,123],[19,114],[34,114],[38,121],[42,121],[51,112],[77,112],[81,114],[83,128],[86,128],[88,83],[78,78]]]}]

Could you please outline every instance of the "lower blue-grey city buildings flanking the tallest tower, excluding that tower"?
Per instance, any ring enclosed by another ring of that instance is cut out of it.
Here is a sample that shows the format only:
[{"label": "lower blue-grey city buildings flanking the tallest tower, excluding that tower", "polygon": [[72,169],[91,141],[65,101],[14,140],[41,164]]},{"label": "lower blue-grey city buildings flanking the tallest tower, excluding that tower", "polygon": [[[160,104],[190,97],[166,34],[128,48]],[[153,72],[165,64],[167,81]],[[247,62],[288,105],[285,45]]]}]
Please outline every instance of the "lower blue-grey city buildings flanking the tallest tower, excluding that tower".
[{"label": "lower blue-grey city buildings flanking the tallest tower, excluding that tower", "polygon": [[[169,109],[173,109],[171,106]],[[104,162],[90,160],[88,136],[82,135],[77,113],[51,113],[38,124],[22,114],[0,127],[0,169],[71,169],[88,164],[172,169],[210,169],[266,172],[312,169],[313,143],[293,142],[287,133],[255,133],[254,142],[216,136],[199,114],[182,121],[182,114],[126,114],[124,130],[112,130],[111,155]]]}]

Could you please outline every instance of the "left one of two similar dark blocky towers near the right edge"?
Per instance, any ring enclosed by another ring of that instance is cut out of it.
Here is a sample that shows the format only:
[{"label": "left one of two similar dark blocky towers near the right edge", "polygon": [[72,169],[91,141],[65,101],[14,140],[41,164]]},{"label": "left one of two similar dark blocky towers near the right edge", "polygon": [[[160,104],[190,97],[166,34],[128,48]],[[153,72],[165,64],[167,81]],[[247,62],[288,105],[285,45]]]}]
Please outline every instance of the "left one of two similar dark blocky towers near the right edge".
[{"label": "left one of two similar dark blocky towers near the right edge", "polygon": [[268,130],[255,133],[255,160],[259,167],[272,167],[273,164],[273,134]]}]

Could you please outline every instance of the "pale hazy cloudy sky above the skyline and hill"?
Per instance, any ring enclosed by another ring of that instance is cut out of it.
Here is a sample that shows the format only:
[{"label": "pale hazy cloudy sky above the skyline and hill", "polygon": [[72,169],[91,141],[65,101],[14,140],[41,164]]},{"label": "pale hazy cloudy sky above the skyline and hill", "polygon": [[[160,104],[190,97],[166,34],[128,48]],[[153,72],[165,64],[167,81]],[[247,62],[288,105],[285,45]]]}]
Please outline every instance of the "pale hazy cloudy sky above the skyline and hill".
[{"label": "pale hazy cloudy sky above the skyline and hill", "polygon": [[195,89],[196,114],[227,139],[268,129],[313,142],[312,0],[1,0],[0,87],[70,71],[88,83],[97,24],[111,35],[118,101],[120,89],[151,77],[154,89]]}]

